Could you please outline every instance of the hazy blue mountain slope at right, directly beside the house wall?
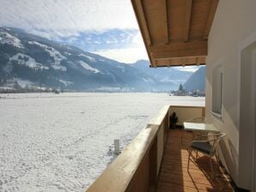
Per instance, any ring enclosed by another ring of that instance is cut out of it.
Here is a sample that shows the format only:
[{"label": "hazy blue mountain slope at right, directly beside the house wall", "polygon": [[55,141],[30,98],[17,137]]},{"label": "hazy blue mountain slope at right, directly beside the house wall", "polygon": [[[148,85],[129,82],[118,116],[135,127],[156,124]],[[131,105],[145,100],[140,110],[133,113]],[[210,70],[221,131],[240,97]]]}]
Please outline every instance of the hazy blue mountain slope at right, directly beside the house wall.
[{"label": "hazy blue mountain slope at right, directly beside the house wall", "polygon": [[183,87],[188,90],[204,90],[205,89],[205,67],[200,67],[187,81]]}]

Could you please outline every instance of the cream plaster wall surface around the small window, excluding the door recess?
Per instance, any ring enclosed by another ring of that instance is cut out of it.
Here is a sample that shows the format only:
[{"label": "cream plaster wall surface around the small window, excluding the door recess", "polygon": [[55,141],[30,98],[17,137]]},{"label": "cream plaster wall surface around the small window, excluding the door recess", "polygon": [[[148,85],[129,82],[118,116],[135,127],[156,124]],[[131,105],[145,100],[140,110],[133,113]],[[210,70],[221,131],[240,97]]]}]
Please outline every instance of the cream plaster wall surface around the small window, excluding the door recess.
[{"label": "cream plaster wall surface around the small window, excluding the door recess", "polygon": [[[206,60],[206,119],[227,134],[220,144],[223,163],[235,183],[250,189],[250,177],[242,175],[240,151],[239,99],[241,45],[256,33],[255,0],[220,0],[213,21]],[[256,40],[256,39],[255,39]],[[222,119],[211,115],[212,69],[222,64]],[[251,153],[248,149],[247,153]],[[244,173],[246,174],[246,173]],[[249,174],[248,174],[249,175]]]}]

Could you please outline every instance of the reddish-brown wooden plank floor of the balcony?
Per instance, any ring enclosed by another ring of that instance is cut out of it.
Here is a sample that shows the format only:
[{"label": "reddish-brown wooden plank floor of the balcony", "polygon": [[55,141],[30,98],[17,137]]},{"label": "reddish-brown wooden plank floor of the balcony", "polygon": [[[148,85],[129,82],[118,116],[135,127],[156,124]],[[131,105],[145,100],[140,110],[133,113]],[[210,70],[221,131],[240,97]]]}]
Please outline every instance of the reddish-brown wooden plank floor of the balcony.
[{"label": "reddish-brown wooden plank floor of the balcony", "polygon": [[[183,134],[182,144],[181,135]],[[216,178],[210,177],[210,161],[203,154],[198,153],[197,164],[190,161],[187,171],[187,145],[192,134],[184,130],[169,130],[168,141],[164,150],[162,167],[157,183],[157,192],[193,192],[193,191],[234,191],[229,179],[214,164]]]}]

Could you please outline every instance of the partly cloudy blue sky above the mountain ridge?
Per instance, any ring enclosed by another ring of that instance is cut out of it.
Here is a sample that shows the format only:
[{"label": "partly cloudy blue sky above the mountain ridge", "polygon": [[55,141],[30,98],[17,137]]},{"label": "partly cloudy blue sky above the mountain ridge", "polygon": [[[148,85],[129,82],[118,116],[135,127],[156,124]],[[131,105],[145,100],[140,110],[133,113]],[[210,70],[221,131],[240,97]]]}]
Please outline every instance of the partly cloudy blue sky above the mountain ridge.
[{"label": "partly cloudy blue sky above the mountain ridge", "polygon": [[0,0],[0,4],[0,26],[20,27],[119,62],[148,59],[130,0]]}]

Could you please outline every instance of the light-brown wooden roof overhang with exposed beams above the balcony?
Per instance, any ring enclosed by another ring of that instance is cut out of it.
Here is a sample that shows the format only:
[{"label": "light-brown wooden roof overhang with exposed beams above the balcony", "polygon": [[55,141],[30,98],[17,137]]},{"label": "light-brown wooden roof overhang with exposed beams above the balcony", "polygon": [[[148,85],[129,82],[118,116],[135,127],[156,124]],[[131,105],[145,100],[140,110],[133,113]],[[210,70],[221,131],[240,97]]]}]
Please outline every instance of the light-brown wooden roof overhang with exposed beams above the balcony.
[{"label": "light-brown wooden roof overhang with exposed beams above the balcony", "polygon": [[131,0],[150,67],[205,64],[218,0]]}]

